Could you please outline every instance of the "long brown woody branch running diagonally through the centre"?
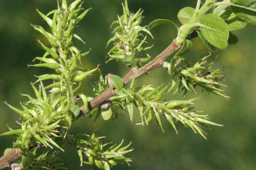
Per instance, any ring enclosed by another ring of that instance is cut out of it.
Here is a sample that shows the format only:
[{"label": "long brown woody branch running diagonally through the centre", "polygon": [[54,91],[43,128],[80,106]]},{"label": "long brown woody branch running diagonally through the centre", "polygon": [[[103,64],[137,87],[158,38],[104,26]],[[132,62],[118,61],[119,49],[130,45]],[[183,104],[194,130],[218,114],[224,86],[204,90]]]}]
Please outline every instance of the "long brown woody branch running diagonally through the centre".
[{"label": "long brown woody branch running diagonally through the centre", "polygon": [[[171,42],[171,44],[162,51],[157,57],[155,57],[152,61],[147,63],[145,66],[135,70],[131,69],[126,76],[124,76],[123,82],[124,85],[127,85],[131,82],[133,75],[136,74],[136,78],[148,73],[149,71],[162,67],[163,61],[169,57],[173,52],[177,51],[181,45],[179,45],[175,40]],[[77,116],[77,119],[79,119],[81,116],[85,115],[91,110],[94,110],[98,108],[103,102],[111,98],[112,96],[115,96],[116,93],[114,92],[113,88],[108,88],[100,95],[96,96],[93,100],[88,102],[88,108],[85,110],[84,106],[80,107],[80,113]],[[76,120],[76,119],[75,119]]]}]

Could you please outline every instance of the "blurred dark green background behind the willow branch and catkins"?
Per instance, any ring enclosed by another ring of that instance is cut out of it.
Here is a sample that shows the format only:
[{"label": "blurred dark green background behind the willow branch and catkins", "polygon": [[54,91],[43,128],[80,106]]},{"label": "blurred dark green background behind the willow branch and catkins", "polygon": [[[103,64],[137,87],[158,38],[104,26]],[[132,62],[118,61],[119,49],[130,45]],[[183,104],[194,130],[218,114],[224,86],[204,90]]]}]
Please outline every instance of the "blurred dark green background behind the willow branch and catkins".
[{"label": "blurred dark green background behind the willow branch and catkins", "polygon": [[[68,0],[69,2],[71,0]],[[121,14],[122,0],[85,0],[84,8],[93,7],[87,17],[79,24],[76,33],[86,45],[76,42],[82,51],[93,50],[83,60],[84,67],[95,68],[100,63],[102,74],[112,73],[124,76],[128,71],[116,61],[105,64],[106,42],[111,38],[110,24]],[[165,18],[179,23],[177,13],[187,6],[195,7],[196,0],[128,0],[130,10],[136,12],[144,9],[144,23],[147,25],[154,19]],[[56,0],[0,0],[0,133],[7,130],[6,124],[13,128],[18,125],[15,120],[18,115],[3,104],[8,101],[19,107],[19,102],[25,99],[20,93],[33,94],[29,82],[35,81],[33,75],[45,74],[47,69],[27,68],[36,56],[42,56],[43,49],[36,39],[42,35],[33,30],[31,23],[46,27],[35,8],[43,13],[55,9]],[[138,126],[130,122],[128,114],[121,113],[117,121],[98,120],[94,127],[93,119],[78,120],[72,127],[72,133],[91,134],[94,129],[99,136],[106,136],[104,142],[119,143],[122,138],[126,143],[132,141],[135,151],[129,157],[135,161],[128,167],[126,164],[114,167],[113,170],[255,170],[256,168],[256,27],[247,26],[242,31],[236,31],[239,42],[227,49],[217,51],[219,55],[215,68],[225,68],[227,75],[226,94],[231,96],[227,101],[215,95],[200,93],[196,102],[199,110],[209,114],[214,122],[224,124],[224,127],[213,127],[208,130],[208,140],[195,135],[191,130],[178,126],[179,135],[166,121],[163,121],[165,133],[152,121],[149,126]],[[151,56],[156,56],[175,38],[177,31],[170,26],[155,28],[154,48]],[[193,40],[193,51],[186,56],[191,62],[205,55],[203,43]],[[89,79],[97,81],[95,74]],[[164,69],[157,69],[150,76],[137,80],[137,85],[170,83]],[[84,83],[86,94],[91,94],[90,88]],[[186,98],[196,97],[191,94]],[[169,96],[180,99],[180,94]],[[14,137],[0,137],[0,155],[4,149],[11,147]],[[89,166],[79,167],[77,153],[72,148],[66,148],[61,158],[69,170],[90,170]]]}]

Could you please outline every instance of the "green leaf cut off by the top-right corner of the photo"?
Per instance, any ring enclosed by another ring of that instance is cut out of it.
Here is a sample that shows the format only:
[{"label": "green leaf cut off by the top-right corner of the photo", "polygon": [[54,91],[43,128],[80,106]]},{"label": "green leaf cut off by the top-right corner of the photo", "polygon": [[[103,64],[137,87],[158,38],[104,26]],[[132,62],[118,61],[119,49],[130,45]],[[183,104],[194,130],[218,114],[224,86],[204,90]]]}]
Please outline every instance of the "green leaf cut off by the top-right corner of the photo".
[{"label": "green leaf cut off by the top-right corner of the photo", "polygon": [[248,24],[256,26],[256,0],[231,0],[231,2],[235,5],[247,8],[245,9],[242,7],[231,6],[232,11],[236,14],[237,17],[247,22]]}]

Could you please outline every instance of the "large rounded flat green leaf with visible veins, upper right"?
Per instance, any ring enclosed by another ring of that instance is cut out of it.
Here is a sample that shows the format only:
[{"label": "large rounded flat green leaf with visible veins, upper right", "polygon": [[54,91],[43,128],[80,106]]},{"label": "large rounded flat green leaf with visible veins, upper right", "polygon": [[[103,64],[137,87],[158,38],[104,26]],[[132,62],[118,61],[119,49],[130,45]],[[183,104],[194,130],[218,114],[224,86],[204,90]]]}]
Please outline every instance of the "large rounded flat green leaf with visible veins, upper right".
[{"label": "large rounded flat green leaf with visible veins, upper right", "polygon": [[215,14],[206,14],[200,18],[200,23],[213,29],[200,28],[203,36],[208,42],[220,49],[225,49],[228,46],[228,25],[222,17]]}]

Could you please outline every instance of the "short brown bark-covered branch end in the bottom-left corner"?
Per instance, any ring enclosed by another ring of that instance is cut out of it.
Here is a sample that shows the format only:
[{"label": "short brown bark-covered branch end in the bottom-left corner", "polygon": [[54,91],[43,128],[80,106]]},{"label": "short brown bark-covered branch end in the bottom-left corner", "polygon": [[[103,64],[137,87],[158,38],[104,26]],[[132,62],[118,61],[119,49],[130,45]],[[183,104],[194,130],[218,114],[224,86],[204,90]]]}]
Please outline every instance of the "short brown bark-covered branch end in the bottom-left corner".
[{"label": "short brown bark-covered branch end in the bottom-left corner", "polygon": [[0,170],[10,167],[11,163],[17,158],[21,157],[22,153],[19,148],[12,149],[0,158]]}]

